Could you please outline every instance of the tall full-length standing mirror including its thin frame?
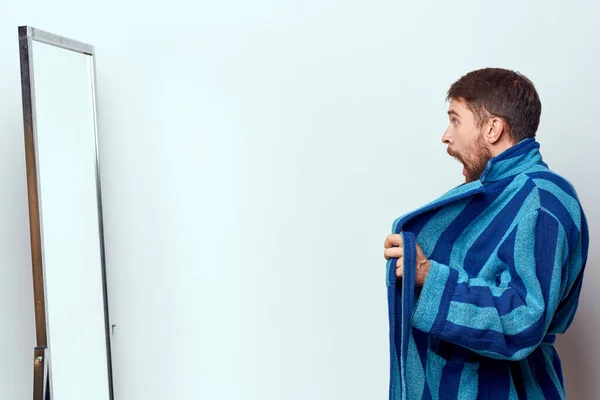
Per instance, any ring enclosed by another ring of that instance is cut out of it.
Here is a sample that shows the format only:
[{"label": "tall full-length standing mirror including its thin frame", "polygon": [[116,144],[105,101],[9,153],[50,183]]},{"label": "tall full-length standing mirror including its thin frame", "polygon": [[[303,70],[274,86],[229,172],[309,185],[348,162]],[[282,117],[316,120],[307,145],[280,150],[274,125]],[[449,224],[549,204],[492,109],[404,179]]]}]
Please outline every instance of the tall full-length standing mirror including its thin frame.
[{"label": "tall full-length standing mirror including its thin frame", "polygon": [[112,399],[94,48],[31,27],[19,41],[34,399]]}]

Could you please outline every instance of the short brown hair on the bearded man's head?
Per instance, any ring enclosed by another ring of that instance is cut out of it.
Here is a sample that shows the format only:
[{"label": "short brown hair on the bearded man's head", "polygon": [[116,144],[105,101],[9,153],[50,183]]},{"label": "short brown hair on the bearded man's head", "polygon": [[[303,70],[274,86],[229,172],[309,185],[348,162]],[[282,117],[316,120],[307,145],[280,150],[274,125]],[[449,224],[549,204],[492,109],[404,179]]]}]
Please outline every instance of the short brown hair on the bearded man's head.
[{"label": "short brown hair on the bearded man's head", "polygon": [[469,72],[454,82],[446,100],[464,101],[480,127],[490,117],[502,118],[516,143],[535,137],[542,103],[533,83],[524,75],[501,68]]}]

